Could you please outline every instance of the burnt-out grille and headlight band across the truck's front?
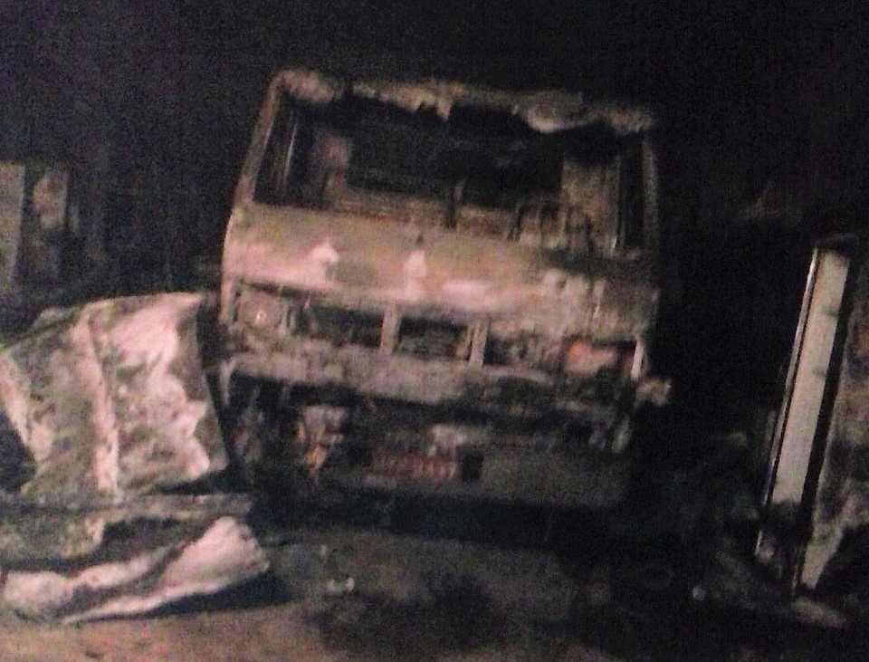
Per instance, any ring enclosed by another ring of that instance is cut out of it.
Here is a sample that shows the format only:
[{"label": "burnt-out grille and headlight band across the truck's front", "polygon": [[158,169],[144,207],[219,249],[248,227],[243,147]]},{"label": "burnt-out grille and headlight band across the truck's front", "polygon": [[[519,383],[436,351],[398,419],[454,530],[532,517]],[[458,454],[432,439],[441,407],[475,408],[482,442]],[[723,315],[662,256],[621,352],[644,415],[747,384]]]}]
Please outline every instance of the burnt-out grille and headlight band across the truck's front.
[{"label": "burnt-out grille and headlight band across the truck's front", "polygon": [[528,331],[504,332],[503,325],[470,314],[447,318],[434,309],[251,285],[236,295],[234,324],[249,349],[280,351],[310,339],[422,360],[616,381],[631,375],[635,354],[633,341],[551,339]]}]

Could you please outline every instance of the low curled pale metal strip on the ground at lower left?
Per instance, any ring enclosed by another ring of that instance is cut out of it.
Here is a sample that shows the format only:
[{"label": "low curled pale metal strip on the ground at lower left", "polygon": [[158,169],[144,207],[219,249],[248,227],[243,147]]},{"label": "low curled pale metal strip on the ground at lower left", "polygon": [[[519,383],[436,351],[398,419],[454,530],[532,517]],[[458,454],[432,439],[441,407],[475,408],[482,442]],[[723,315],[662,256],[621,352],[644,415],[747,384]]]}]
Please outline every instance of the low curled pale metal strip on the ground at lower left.
[{"label": "low curled pale metal strip on the ground at lower left", "polygon": [[8,571],[7,605],[32,618],[74,622],[148,612],[209,594],[268,567],[253,533],[234,517],[167,529],[139,526],[119,549],[72,570]]}]

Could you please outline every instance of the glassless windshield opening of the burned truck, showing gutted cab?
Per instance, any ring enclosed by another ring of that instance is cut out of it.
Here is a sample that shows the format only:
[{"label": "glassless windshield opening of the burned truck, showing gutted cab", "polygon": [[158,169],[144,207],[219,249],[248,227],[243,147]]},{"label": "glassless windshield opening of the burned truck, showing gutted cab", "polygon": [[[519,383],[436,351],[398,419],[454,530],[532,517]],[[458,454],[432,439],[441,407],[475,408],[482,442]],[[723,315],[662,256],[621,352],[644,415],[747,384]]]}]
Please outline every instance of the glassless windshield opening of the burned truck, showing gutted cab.
[{"label": "glassless windshield opening of the burned truck, showing gutted cab", "polygon": [[462,104],[444,120],[357,97],[320,106],[284,95],[255,199],[625,253],[642,245],[639,145],[601,127],[544,134]]}]

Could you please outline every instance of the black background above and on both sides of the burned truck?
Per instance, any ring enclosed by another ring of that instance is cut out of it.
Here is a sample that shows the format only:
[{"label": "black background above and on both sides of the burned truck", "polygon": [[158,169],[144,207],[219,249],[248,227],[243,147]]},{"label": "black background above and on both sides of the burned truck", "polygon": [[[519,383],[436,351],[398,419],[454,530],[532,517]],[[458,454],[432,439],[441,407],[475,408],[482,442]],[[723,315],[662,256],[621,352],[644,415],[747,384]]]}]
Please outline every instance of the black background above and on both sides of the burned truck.
[{"label": "black background above and on both sides of the burned truck", "polygon": [[714,410],[775,398],[811,240],[865,225],[867,33],[869,7],[832,0],[5,0],[0,158],[68,165],[91,245],[135,270],[219,254],[282,65],[648,104],[658,363]]}]

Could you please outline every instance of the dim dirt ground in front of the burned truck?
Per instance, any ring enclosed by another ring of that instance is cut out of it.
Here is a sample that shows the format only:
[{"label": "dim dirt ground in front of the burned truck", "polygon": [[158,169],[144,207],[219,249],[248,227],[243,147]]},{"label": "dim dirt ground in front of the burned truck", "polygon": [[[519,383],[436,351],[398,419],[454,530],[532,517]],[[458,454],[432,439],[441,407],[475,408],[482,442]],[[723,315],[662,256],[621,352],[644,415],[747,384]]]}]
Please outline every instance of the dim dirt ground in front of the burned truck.
[{"label": "dim dirt ground in front of the burned truck", "polygon": [[609,559],[378,532],[305,534],[270,553],[265,577],[148,618],[57,625],[2,614],[0,660],[826,662],[869,653],[856,632],[710,609],[649,581],[632,592],[636,568]]}]

